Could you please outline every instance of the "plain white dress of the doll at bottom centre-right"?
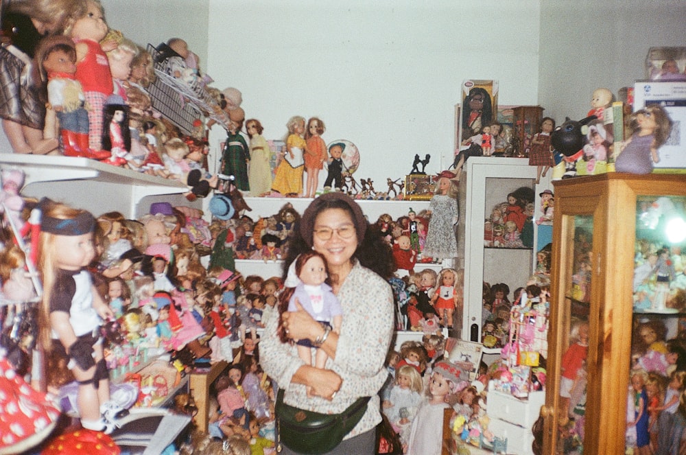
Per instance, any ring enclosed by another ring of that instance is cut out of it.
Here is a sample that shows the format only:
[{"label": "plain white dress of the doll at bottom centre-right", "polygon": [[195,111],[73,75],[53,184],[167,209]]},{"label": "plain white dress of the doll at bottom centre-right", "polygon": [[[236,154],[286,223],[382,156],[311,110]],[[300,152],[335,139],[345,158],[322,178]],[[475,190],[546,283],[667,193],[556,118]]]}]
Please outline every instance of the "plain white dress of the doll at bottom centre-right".
[{"label": "plain white dress of the doll at bottom centre-right", "polygon": [[423,401],[412,421],[406,455],[440,455],[443,410],[449,407],[447,403]]}]

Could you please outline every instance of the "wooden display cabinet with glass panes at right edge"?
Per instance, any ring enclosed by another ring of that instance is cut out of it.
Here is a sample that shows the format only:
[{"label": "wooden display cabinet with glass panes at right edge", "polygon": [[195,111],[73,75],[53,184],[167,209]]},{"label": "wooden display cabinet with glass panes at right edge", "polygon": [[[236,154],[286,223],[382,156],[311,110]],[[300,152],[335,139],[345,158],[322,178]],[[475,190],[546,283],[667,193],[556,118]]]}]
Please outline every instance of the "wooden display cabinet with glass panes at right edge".
[{"label": "wooden display cabinet with glass panes at right edge", "polygon": [[[560,409],[560,364],[571,342],[570,329],[578,320],[589,325],[583,453],[624,453],[635,317],[635,244],[649,237],[641,224],[659,199],[670,200],[674,209],[652,213],[657,221],[651,235],[657,235],[658,229],[662,232],[667,219],[674,215],[683,223],[684,182],[682,175],[618,173],[554,182],[548,375],[545,406],[541,408],[545,419],[543,453],[565,453],[558,432],[567,419],[567,412]],[[683,224],[680,232],[686,233]],[[686,247],[683,238],[668,240],[665,235],[650,242]],[[656,308],[644,313],[676,320],[677,311]]]}]

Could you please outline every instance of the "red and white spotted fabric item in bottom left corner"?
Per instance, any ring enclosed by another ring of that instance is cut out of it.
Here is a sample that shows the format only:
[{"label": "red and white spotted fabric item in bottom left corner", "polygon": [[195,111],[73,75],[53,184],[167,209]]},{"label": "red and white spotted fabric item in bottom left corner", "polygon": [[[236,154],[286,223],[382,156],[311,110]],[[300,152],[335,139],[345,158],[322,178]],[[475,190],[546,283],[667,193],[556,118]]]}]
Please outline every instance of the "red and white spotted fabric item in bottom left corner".
[{"label": "red and white spotted fabric item in bottom left corner", "polygon": [[0,455],[26,453],[54,429],[60,410],[0,358]]}]

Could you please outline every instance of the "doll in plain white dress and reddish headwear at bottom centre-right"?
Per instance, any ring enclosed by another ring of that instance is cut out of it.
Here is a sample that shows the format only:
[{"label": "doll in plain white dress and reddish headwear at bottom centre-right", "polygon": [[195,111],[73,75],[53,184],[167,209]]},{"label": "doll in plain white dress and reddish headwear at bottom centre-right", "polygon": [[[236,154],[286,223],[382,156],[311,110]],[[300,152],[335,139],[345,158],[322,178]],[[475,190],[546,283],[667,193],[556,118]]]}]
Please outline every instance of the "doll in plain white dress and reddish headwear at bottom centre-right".
[{"label": "doll in plain white dress and reddish headwear at bottom centre-right", "polygon": [[460,370],[450,362],[438,362],[429,380],[429,397],[422,402],[412,421],[407,455],[438,455],[442,447],[443,410],[450,405],[445,397],[456,390]]}]

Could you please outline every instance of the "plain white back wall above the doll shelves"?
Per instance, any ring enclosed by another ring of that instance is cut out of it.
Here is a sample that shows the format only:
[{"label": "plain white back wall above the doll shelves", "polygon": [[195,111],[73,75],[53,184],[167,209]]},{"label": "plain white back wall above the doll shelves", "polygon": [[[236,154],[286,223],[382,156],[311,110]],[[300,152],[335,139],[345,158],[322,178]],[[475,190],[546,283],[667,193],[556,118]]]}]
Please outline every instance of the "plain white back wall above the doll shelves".
[{"label": "plain white back wall above the doll shelves", "polygon": [[462,80],[497,79],[501,104],[536,104],[538,1],[211,0],[209,30],[215,86],[243,92],[266,138],[319,116],[324,141],[357,145],[358,176],[377,189],[416,153],[431,154],[427,172],[440,154],[452,163]]}]

